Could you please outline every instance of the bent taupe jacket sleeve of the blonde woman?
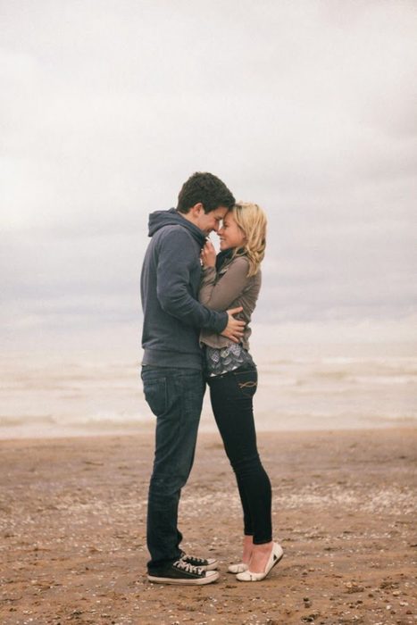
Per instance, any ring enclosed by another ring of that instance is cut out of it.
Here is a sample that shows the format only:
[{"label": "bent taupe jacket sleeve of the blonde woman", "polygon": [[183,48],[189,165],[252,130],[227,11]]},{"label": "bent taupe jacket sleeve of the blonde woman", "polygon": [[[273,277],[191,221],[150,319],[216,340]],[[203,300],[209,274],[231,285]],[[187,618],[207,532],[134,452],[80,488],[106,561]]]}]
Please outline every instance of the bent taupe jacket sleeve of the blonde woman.
[{"label": "bent taupe jacket sleeve of the blonde woman", "polygon": [[[228,270],[218,276],[214,267],[204,269],[199,300],[216,311],[226,311],[248,285],[246,258],[236,258],[230,262]],[[218,279],[219,278],[219,279]]]}]

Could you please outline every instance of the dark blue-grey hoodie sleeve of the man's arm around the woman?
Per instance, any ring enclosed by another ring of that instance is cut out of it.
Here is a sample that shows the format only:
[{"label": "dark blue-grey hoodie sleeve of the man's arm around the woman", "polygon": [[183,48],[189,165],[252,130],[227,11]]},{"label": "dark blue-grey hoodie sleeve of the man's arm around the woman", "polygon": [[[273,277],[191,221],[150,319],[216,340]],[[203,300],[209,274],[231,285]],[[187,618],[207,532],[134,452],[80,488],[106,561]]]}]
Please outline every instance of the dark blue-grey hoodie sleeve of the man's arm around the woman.
[{"label": "dark blue-grey hoodie sleeve of the man's arm around the woman", "polygon": [[164,312],[196,328],[221,333],[228,325],[226,312],[214,312],[200,304],[190,292],[190,271],[196,253],[182,229],[171,230],[161,239],[156,271],[156,295]]}]

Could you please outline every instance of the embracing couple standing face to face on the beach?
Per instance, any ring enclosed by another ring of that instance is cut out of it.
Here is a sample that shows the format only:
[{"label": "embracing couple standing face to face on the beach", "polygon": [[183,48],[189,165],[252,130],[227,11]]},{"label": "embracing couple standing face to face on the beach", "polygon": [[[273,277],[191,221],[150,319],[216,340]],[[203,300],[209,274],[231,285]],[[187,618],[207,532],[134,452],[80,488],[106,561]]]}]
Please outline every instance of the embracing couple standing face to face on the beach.
[{"label": "embracing couple standing face to face on the beach", "polygon": [[[221,240],[217,256],[207,238],[213,230]],[[236,204],[213,174],[195,173],[182,186],[176,209],[150,215],[149,236],[141,275],[141,375],[156,417],[148,579],[201,585],[219,578],[216,560],[181,550],[177,524],[208,384],[243,509],[242,561],[231,564],[229,572],[239,581],[260,581],[283,554],[272,541],[271,482],[256,447],[257,372],[248,351],[266,218],[257,204]]]}]

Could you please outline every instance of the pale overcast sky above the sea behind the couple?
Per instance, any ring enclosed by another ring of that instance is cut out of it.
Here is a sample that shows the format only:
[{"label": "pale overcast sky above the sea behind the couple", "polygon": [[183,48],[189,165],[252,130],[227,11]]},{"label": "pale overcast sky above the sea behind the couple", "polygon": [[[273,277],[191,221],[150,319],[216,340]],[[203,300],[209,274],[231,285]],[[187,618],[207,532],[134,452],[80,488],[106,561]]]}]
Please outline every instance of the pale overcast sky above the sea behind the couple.
[{"label": "pale overcast sky above the sea behind the couple", "polygon": [[194,171],[269,215],[257,321],[410,322],[413,0],[0,7],[6,345],[136,332],[147,214]]}]

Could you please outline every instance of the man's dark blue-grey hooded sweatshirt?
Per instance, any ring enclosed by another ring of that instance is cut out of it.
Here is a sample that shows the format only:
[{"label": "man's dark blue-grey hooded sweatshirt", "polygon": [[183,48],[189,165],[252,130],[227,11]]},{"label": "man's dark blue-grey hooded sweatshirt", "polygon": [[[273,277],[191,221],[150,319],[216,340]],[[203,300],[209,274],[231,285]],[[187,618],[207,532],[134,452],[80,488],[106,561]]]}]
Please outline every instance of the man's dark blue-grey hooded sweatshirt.
[{"label": "man's dark blue-grey hooded sweatshirt", "polygon": [[175,209],[149,216],[140,291],[144,324],[143,364],[202,369],[200,329],[221,333],[229,318],[199,304],[204,232]]}]

